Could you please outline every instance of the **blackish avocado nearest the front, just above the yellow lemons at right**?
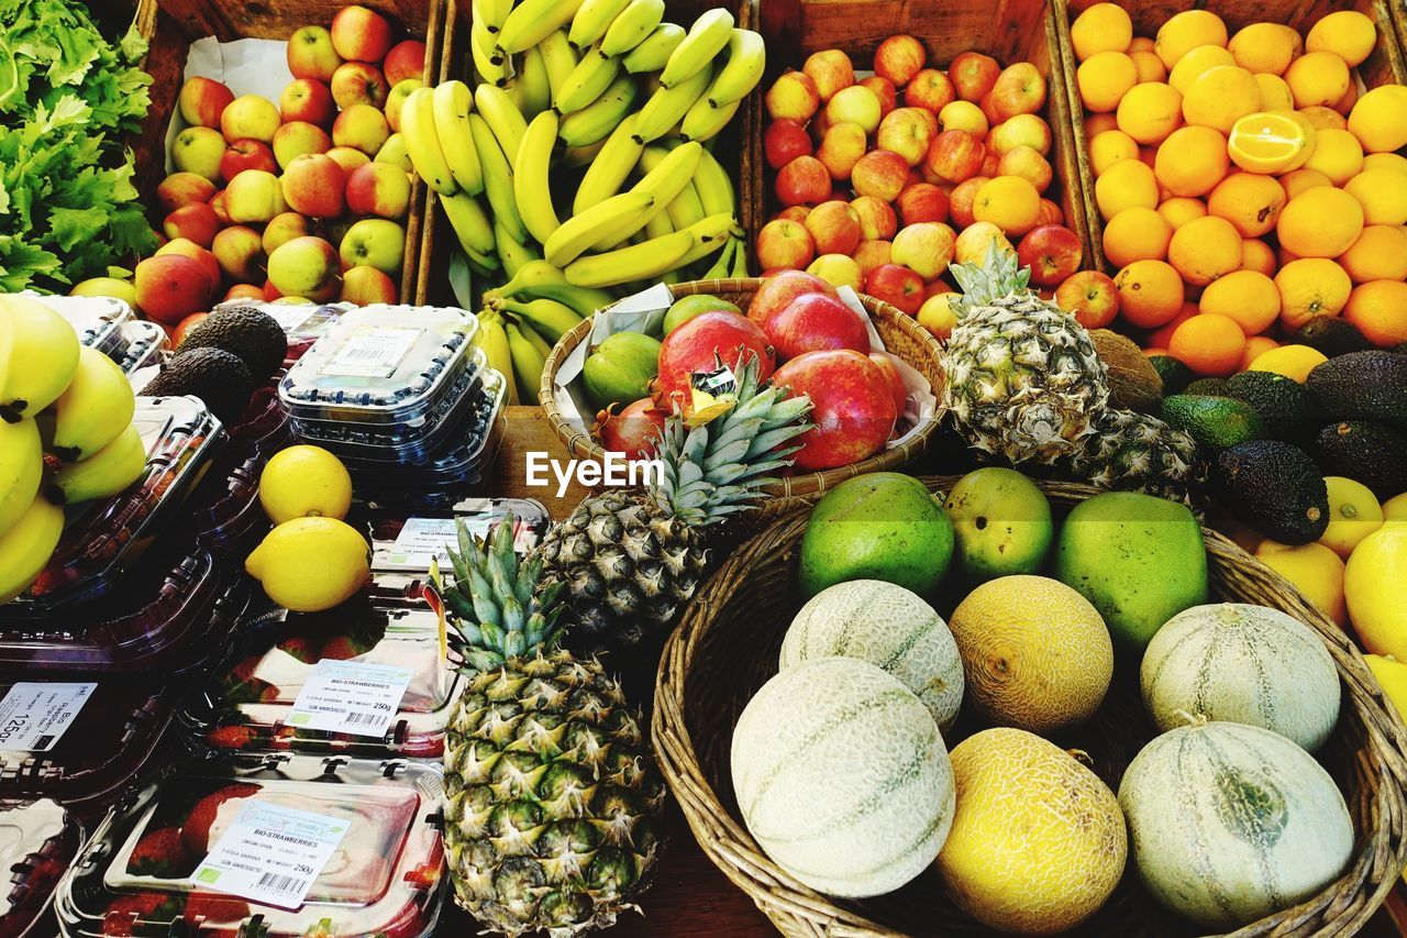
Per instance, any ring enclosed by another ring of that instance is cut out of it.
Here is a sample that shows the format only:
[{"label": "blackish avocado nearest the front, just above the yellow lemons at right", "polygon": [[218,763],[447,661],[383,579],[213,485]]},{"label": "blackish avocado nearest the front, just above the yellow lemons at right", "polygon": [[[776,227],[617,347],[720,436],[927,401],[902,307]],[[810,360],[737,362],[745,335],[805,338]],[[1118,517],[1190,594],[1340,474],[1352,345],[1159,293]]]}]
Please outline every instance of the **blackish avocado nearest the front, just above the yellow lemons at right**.
[{"label": "blackish avocado nearest the front, just above the yellow lemons at right", "polygon": [[1299,446],[1252,439],[1217,454],[1211,490],[1238,520],[1280,544],[1317,541],[1328,527],[1328,487]]}]

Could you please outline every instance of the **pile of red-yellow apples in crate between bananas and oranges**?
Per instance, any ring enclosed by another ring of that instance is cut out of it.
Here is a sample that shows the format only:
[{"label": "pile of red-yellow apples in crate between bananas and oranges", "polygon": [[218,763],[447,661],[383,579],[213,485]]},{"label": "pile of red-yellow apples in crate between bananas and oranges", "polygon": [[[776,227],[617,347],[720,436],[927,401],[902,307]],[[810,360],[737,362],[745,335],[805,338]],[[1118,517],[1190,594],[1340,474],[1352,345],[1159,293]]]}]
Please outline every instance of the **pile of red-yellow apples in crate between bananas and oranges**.
[{"label": "pile of red-yellow apples in crate between bananas and oranges", "polygon": [[[1045,197],[1045,77],[962,52],[940,70],[912,35],[879,44],[855,77],[839,49],[815,52],[767,92],[764,134],[778,211],[757,237],[764,270],[799,268],[892,303],[946,338],[950,263],[1012,245],[1031,283],[1074,275],[1082,249]],[[902,103],[902,106],[900,106]]]}]

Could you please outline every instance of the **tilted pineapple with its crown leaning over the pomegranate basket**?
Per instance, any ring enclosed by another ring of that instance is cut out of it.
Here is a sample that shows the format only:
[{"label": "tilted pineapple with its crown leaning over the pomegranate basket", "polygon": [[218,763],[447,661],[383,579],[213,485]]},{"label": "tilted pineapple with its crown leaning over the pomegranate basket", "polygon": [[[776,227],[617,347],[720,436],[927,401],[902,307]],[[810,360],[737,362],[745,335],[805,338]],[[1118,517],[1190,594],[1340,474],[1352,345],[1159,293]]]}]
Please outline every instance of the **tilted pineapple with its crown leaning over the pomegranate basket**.
[{"label": "tilted pineapple with its crown leaning over the pomegranate basket", "polygon": [[656,456],[666,476],[649,492],[585,499],[542,544],[547,572],[566,584],[573,641],[619,651],[661,637],[708,568],[702,528],[747,508],[787,465],[805,432],[810,399],[763,387],[757,358],[734,368],[737,400],[701,427],[675,414]]}]

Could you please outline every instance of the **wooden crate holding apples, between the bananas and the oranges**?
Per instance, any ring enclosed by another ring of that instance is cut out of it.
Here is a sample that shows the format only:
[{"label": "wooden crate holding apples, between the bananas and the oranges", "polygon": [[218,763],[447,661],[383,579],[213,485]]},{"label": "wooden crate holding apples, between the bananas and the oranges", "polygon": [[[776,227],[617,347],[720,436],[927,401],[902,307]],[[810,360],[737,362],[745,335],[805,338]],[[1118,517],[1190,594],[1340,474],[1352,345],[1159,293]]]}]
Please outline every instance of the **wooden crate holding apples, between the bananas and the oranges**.
[{"label": "wooden crate holding apples, between the bananas and the oranges", "polygon": [[[1061,76],[1064,59],[1055,38],[1055,23],[1044,0],[765,0],[761,4],[763,35],[767,38],[767,77],[758,94],[787,69],[799,69],[806,56],[820,49],[840,49],[855,69],[868,70],[874,52],[888,37],[915,35],[929,49],[929,61],[947,66],[960,52],[983,52],[1002,66],[1031,62],[1045,75],[1047,104],[1041,117],[1051,127],[1055,180],[1045,193],[1065,213],[1069,227],[1086,245],[1089,231],[1085,201],[1079,193],[1078,135],[1071,132],[1069,104]],[[763,158],[761,134],[767,115],[758,107],[757,127],[749,138],[753,189],[760,193],[756,224],[760,228],[778,208],[772,196],[775,173]],[[757,228],[749,235],[756,237]]]}]

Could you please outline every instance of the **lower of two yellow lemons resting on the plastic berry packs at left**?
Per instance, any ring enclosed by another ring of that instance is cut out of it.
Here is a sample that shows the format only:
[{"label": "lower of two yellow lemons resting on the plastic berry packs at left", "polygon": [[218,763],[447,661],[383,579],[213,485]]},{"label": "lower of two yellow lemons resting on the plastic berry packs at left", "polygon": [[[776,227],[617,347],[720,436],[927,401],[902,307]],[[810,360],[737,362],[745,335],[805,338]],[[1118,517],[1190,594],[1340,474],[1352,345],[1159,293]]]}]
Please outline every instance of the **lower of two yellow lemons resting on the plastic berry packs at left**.
[{"label": "lower of two yellow lemons resting on the plastic berry packs at left", "polygon": [[245,558],[245,572],[294,613],[321,613],[356,596],[370,551],[356,528],[336,518],[284,521]]}]

